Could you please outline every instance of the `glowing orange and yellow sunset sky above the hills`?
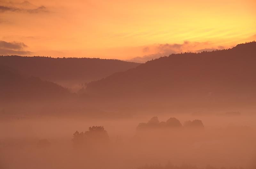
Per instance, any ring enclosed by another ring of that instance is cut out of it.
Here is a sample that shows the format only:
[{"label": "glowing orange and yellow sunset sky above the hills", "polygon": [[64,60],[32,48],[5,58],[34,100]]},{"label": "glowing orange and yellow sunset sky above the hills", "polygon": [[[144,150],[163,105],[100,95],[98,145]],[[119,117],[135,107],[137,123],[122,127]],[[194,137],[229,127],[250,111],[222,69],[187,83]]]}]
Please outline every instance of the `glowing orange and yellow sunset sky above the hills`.
[{"label": "glowing orange and yellow sunset sky above the hills", "polygon": [[0,0],[0,55],[145,62],[256,40],[255,0]]}]

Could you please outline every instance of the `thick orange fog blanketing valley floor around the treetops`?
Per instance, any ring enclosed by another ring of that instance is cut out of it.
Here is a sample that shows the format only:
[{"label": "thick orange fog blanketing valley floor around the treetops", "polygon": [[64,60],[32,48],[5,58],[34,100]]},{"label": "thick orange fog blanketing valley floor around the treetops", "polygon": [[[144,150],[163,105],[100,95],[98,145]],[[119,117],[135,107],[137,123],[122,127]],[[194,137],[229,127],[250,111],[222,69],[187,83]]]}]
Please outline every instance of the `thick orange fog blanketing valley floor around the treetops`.
[{"label": "thick orange fog blanketing valley floor around the treetops", "polygon": [[[170,112],[152,117],[2,115],[0,168],[255,168],[255,115]],[[170,117],[182,126],[158,126]],[[184,125],[195,119],[203,128]],[[148,125],[140,128],[139,123]],[[103,126],[108,140],[72,141],[76,131],[92,126]]]}]

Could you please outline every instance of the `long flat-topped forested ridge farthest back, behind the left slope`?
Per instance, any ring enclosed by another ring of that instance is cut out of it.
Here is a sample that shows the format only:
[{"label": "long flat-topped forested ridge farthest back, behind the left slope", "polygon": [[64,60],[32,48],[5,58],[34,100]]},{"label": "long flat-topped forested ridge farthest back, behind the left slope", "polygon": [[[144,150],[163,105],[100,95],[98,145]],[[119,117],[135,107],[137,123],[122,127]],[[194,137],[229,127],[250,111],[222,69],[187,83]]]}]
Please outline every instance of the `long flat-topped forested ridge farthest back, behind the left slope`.
[{"label": "long flat-topped forested ridge farthest back, behind the left slope", "polygon": [[[1,54],[1,53],[0,53]],[[2,65],[77,91],[90,81],[139,66],[139,63],[97,58],[0,56]]]}]

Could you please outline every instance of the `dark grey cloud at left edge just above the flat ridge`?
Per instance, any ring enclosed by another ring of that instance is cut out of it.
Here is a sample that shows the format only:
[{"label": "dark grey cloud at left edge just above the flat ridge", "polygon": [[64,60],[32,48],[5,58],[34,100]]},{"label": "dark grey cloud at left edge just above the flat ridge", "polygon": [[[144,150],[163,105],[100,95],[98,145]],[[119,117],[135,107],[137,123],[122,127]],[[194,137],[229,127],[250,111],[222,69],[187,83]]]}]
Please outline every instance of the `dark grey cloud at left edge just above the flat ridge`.
[{"label": "dark grey cloud at left edge just above the flat ridge", "polygon": [[28,47],[23,42],[6,42],[0,40],[0,55],[25,55],[31,54],[30,51],[25,51],[24,48]]}]

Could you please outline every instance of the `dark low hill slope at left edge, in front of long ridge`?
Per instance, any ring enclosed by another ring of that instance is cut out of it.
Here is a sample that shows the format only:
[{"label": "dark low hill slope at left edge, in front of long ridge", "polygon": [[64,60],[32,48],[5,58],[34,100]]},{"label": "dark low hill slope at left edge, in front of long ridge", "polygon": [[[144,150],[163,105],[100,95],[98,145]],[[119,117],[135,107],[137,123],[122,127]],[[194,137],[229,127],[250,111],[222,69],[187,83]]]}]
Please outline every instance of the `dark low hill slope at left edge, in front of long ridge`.
[{"label": "dark low hill slope at left edge, in front of long ridge", "polygon": [[68,89],[60,85],[37,77],[24,77],[13,68],[0,65],[1,103],[50,101],[70,95]]}]

